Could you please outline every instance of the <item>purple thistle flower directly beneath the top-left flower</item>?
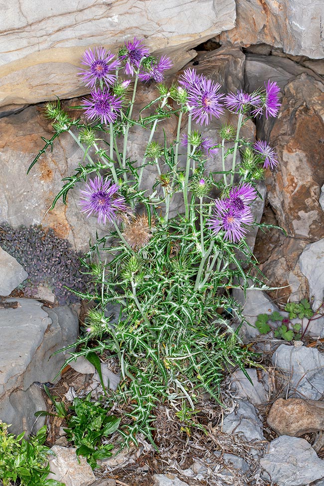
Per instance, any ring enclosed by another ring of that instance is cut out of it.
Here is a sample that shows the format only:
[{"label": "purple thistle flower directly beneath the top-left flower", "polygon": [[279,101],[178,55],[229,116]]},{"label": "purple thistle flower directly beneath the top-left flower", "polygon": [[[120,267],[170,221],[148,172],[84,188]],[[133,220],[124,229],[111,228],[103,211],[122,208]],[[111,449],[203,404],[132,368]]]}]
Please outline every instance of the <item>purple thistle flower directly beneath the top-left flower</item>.
[{"label": "purple thistle flower directly beneath the top-left flower", "polygon": [[120,113],[122,101],[115,95],[111,95],[108,89],[94,90],[90,93],[91,98],[82,100],[86,116],[90,120],[100,118],[100,122],[104,124],[114,123],[117,115]]}]

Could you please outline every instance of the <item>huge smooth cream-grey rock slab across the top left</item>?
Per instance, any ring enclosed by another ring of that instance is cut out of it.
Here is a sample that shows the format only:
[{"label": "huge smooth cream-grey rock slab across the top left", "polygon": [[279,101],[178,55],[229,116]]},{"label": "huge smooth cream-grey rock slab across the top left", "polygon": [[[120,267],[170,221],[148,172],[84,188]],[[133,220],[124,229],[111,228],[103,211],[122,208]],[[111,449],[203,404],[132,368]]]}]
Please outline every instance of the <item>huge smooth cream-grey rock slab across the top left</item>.
[{"label": "huge smooth cream-grey rock slab across the top left", "polygon": [[[0,105],[89,92],[77,76],[87,47],[103,45],[117,52],[124,41],[145,37],[151,52],[170,56],[177,70],[194,56],[187,52],[191,47],[235,24],[234,0],[206,0],[203,8],[198,0],[81,0],[77,5],[59,2],[53,8],[48,0],[13,0],[5,7]],[[31,28],[37,35],[30,34]]]}]

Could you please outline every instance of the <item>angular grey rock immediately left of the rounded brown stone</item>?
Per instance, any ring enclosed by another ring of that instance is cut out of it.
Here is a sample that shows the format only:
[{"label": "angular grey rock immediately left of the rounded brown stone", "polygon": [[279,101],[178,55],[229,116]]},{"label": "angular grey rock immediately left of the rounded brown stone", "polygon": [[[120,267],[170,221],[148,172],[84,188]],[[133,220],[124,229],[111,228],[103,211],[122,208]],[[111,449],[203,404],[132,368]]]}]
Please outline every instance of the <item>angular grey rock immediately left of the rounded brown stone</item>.
[{"label": "angular grey rock immediately left of the rounded brown stone", "polygon": [[244,400],[236,401],[238,408],[224,418],[223,432],[241,434],[248,442],[264,441],[262,422],[254,406]]}]

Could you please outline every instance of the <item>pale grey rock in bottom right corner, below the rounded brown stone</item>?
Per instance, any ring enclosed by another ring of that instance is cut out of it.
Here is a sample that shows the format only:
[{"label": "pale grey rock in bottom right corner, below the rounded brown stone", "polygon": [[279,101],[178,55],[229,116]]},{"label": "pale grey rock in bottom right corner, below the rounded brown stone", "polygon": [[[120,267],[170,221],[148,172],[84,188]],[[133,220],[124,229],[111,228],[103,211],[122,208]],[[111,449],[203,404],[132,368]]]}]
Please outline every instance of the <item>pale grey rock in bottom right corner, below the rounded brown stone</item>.
[{"label": "pale grey rock in bottom right corner, below the rounded brown stone", "polygon": [[[270,443],[261,466],[278,486],[303,486],[324,478],[324,461],[305,439],[283,435]],[[266,478],[268,479],[268,478]]]}]

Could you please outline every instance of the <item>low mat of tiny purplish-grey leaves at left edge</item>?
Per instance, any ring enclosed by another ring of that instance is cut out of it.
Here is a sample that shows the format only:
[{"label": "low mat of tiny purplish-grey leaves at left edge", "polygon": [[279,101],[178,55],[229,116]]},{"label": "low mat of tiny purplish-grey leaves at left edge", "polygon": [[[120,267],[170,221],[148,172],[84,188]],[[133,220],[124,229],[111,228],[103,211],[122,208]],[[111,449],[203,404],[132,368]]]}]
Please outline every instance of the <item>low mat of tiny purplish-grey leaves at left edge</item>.
[{"label": "low mat of tiny purplish-grey leaves at left edge", "polygon": [[34,296],[38,286],[45,285],[55,294],[60,305],[77,302],[79,298],[65,287],[82,292],[89,282],[82,274],[80,255],[51,228],[0,225],[0,246],[14,257],[28,273],[20,285],[27,296]]}]

